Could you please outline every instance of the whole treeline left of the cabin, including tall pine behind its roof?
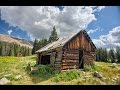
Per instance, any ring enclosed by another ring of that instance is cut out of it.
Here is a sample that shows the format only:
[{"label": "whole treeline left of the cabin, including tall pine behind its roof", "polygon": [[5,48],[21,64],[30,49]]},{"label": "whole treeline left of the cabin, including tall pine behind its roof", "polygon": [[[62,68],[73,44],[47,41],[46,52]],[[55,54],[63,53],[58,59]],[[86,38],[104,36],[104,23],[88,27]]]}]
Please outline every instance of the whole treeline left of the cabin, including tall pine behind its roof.
[{"label": "whole treeline left of the cabin, including tall pine behind its roof", "polygon": [[43,46],[58,40],[58,35],[55,26],[51,31],[49,39],[42,38],[40,40],[35,39],[33,48],[20,46],[15,43],[0,42],[0,56],[29,56],[35,54],[35,51],[42,48]]}]

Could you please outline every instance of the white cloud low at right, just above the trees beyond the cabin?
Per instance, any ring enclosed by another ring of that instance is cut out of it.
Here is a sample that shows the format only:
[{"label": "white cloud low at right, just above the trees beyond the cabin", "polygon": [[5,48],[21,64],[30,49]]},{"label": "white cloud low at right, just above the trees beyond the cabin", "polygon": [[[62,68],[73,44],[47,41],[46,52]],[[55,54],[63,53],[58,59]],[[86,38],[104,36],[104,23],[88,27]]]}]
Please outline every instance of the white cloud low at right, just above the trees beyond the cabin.
[{"label": "white cloud low at right, just above the trees beyond the cabin", "polygon": [[93,39],[98,47],[111,45],[120,46],[120,26],[113,28],[107,35],[101,35],[99,39]]}]

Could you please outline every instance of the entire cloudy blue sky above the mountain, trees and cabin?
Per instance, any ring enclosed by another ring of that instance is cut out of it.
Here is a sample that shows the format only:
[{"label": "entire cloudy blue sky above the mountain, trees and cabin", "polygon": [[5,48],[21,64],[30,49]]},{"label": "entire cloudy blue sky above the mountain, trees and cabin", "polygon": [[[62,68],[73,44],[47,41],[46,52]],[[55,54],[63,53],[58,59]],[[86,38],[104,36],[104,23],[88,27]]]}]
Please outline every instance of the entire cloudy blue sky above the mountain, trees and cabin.
[{"label": "entire cloudy blue sky above the mountain, trees and cabin", "polygon": [[[30,8],[33,15],[29,11]],[[79,13],[77,12],[77,8],[80,9]],[[33,40],[33,37],[40,39],[43,36],[49,36],[50,31],[52,30],[51,27],[53,27],[51,25],[56,25],[58,34],[61,37],[64,37],[78,32],[77,29],[84,28],[84,26],[87,25],[85,29],[96,46],[108,48],[120,45],[119,6],[105,6],[105,8],[95,12],[93,11],[94,9],[91,7],[86,7],[84,10],[83,8],[81,9],[79,7],[64,6],[59,6],[55,8],[43,7],[42,9],[39,7],[29,7],[27,9],[26,7],[23,7],[22,9],[21,7],[17,7],[17,9],[16,7],[5,7],[5,9],[7,9],[8,12],[5,12],[5,10],[3,9],[2,20],[0,21],[0,34],[8,34],[27,40]],[[88,14],[83,13],[82,10]],[[23,14],[19,15],[19,12],[23,12]],[[27,14],[29,18],[26,17]],[[56,20],[58,20],[58,22]],[[71,29],[71,31],[69,31],[69,29]]]}]

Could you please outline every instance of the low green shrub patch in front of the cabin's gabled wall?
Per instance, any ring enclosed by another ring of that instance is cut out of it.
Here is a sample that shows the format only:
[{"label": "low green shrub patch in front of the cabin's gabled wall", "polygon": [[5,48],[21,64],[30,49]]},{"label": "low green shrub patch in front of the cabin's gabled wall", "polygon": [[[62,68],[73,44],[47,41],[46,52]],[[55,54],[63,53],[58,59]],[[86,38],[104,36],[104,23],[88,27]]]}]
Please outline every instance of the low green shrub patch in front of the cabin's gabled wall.
[{"label": "low green shrub patch in front of the cabin's gabled wall", "polygon": [[81,76],[80,71],[78,70],[68,70],[66,72],[58,73],[53,78],[53,81],[59,82],[59,81],[71,81],[73,79],[77,79]]}]

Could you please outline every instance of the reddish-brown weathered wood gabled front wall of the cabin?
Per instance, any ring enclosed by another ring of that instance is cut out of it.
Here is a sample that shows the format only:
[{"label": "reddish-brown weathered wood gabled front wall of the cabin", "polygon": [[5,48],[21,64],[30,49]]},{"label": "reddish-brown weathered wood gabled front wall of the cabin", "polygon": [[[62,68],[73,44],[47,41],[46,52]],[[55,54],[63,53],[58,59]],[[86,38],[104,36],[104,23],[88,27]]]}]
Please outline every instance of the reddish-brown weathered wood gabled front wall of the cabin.
[{"label": "reddish-brown weathered wood gabled front wall of the cabin", "polygon": [[[89,37],[88,37],[89,38]],[[74,36],[63,47],[62,55],[62,70],[70,68],[79,68],[79,49],[84,51],[83,59],[84,64],[92,65],[95,60],[90,52],[95,52],[95,48],[92,46],[91,41],[88,40],[83,32]]]}]

